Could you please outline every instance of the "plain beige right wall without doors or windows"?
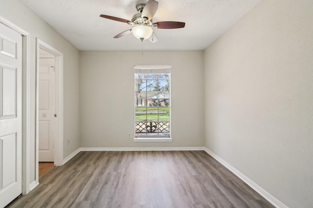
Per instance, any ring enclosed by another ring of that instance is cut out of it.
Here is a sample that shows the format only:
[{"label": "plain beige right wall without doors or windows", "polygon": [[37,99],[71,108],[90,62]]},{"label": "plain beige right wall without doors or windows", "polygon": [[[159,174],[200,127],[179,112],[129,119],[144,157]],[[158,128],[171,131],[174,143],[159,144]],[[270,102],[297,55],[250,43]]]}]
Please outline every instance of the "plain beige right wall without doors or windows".
[{"label": "plain beige right wall without doors or windows", "polygon": [[205,50],[205,146],[313,207],[313,1],[264,0]]}]

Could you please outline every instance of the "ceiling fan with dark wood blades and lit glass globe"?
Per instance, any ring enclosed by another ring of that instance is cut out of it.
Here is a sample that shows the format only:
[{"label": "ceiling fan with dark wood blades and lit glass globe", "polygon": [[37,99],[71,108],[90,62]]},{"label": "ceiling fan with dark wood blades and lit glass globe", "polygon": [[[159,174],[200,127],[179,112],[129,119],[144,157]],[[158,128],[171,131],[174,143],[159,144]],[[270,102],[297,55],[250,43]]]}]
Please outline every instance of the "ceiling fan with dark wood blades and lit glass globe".
[{"label": "ceiling fan with dark wood blades and lit glass globe", "polygon": [[126,30],[114,38],[121,38],[125,35],[133,33],[135,38],[141,41],[149,39],[151,42],[156,42],[156,34],[153,32],[153,28],[159,29],[176,29],[185,27],[185,22],[178,21],[160,21],[153,22],[152,18],[156,14],[158,2],[155,0],[149,0],[146,4],[139,3],[136,5],[136,10],[138,11],[132,18],[132,21],[127,19],[116,18],[108,15],[100,15],[102,18],[112,19],[115,21],[124,22],[134,27],[130,30]]}]

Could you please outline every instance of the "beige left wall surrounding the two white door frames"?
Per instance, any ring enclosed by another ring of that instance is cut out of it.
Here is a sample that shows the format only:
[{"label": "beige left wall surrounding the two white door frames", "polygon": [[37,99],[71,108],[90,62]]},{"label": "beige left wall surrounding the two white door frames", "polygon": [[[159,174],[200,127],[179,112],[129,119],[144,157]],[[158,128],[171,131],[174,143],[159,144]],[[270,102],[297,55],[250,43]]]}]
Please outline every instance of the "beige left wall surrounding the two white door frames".
[{"label": "beige left wall surrounding the two white door frames", "polygon": [[[35,180],[35,70],[36,38],[64,54],[64,157],[80,147],[79,135],[79,51],[19,0],[0,0],[0,16],[30,33],[30,178]],[[71,138],[67,145],[67,138]]]}]

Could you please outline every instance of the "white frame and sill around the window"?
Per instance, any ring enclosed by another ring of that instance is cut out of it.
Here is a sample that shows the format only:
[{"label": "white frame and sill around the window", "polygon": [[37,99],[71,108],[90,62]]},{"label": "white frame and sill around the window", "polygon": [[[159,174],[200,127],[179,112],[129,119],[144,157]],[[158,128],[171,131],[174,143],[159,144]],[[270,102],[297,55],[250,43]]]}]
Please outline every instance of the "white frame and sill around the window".
[{"label": "white frame and sill around the window", "polygon": [[[171,71],[172,66],[171,65],[149,65],[149,66],[142,66],[142,65],[136,65],[134,66],[134,76],[135,74],[137,74],[138,72],[144,72],[144,73],[151,73],[153,71],[159,70],[160,73],[165,72],[165,71]],[[166,73],[171,73],[171,72],[166,72]],[[135,80],[135,77],[134,77]],[[170,111],[171,111],[171,76],[170,76]],[[135,95],[135,83],[134,83],[134,95]],[[136,116],[135,116],[135,105],[134,105],[134,135],[135,135],[135,122],[136,122]],[[134,142],[172,142],[172,135],[171,135],[171,123],[172,123],[172,119],[171,119],[171,113],[170,113],[170,137],[135,137],[133,141]]]}]

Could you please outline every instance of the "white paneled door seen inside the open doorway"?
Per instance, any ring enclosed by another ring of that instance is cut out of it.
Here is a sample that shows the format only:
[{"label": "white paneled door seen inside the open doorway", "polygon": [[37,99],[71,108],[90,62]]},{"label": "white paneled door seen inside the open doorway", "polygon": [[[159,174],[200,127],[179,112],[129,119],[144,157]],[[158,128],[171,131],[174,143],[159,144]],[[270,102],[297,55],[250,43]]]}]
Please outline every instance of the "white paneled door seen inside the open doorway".
[{"label": "white paneled door seen inside the open doorway", "polygon": [[39,162],[54,162],[55,57],[39,58]]}]

